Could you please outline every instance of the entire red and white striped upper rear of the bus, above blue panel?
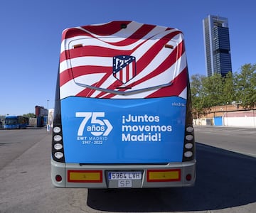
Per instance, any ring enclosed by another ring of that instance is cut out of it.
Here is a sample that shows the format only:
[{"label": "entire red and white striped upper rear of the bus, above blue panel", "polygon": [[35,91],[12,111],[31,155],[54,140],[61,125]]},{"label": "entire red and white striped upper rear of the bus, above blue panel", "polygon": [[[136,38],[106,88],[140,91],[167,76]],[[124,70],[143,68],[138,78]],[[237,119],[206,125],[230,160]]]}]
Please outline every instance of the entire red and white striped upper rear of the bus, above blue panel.
[{"label": "entire red and white striped upper rear of the bus, above blue panel", "polygon": [[[113,59],[117,55],[132,58]],[[125,60],[130,62],[122,67]],[[116,72],[114,67],[118,66],[120,69]],[[69,28],[63,32],[61,99],[69,96],[130,99],[171,95],[186,98],[186,73],[183,35],[175,28],[112,21]],[[81,87],[81,82],[87,82],[87,85]],[[174,90],[163,87],[173,82],[180,83],[180,87]],[[97,89],[92,91],[86,87],[88,85]],[[151,89],[145,89],[148,85]],[[145,91],[138,95],[134,91],[139,89]],[[118,91],[134,94],[127,97]]]}]

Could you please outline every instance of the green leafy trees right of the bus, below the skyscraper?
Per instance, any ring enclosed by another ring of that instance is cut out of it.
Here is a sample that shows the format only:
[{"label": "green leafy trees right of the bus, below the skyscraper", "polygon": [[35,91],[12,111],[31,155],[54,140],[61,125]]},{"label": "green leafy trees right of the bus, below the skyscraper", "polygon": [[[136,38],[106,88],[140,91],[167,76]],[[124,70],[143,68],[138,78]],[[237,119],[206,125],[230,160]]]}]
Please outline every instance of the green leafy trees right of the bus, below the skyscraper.
[{"label": "green leafy trees right of the bus, below the skyscraper", "polygon": [[234,101],[245,109],[252,109],[256,104],[256,64],[243,65],[240,73],[228,72],[225,77],[192,75],[191,99],[197,118],[211,107]]}]

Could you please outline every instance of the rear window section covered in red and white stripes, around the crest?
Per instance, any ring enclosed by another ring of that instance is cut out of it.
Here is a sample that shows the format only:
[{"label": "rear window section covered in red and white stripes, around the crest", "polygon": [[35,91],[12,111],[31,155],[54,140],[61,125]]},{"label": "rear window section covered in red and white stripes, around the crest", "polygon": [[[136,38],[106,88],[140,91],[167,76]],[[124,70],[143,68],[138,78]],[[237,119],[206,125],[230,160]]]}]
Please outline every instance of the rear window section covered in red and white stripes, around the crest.
[{"label": "rear window section covered in red and white stripes, around the crest", "polygon": [[129,94],[172,84],[178,65],[176,40],[131,40],[127,47],[109,43],[108,39],[113,40],[105,37],[70,41],[70,67],[80,87],[90,88],[90,93]]}]

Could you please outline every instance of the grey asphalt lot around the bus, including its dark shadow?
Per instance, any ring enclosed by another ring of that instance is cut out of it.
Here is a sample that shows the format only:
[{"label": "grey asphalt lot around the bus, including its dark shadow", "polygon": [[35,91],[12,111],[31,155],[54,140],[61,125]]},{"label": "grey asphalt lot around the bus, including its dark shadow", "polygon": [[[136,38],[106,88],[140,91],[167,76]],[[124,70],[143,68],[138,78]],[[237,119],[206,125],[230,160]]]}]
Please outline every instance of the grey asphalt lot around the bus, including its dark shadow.
[{"label": "grey asphalt lot around the bus, including its dark shadow", "polygon": [[53,187],[46,129],[0,130],[0,212],[255,212],[255,137],[196,126],[194,187],[87,190]]}]

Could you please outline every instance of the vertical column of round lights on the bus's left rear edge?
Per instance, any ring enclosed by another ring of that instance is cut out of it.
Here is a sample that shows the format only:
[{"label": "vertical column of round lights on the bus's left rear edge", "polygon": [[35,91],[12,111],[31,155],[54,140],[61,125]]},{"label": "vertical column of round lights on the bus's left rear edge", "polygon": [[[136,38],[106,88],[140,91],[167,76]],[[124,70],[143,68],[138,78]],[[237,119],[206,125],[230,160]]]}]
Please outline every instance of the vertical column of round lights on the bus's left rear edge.
[{"label": "vertical column of round lights on the bus's left rear edge", "polygon": [[63,135],[60,126],[53,127],[53,159],[64,162]]}]

